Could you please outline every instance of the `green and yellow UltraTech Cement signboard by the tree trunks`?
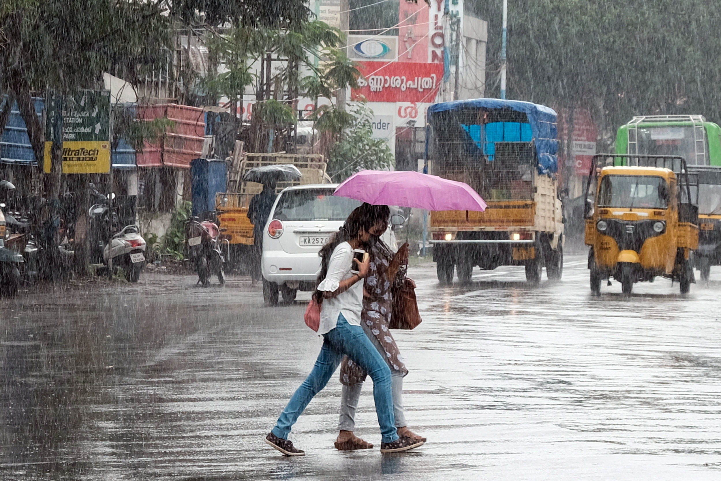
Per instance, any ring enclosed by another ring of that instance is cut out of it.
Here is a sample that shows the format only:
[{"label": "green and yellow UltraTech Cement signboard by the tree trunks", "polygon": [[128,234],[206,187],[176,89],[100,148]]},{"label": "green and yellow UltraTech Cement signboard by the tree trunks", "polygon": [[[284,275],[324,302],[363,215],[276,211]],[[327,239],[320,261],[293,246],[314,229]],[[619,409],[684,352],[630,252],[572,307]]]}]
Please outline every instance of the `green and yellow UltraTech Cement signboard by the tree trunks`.
[{"label": "green and yellow UltraTech Cement signboard by the tree trunks", "polygon": [[110,172],[110,91],[83,90],[45,99],[45,172],[50,173],[53,119],[63,117],[63,174]]}]

